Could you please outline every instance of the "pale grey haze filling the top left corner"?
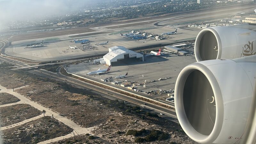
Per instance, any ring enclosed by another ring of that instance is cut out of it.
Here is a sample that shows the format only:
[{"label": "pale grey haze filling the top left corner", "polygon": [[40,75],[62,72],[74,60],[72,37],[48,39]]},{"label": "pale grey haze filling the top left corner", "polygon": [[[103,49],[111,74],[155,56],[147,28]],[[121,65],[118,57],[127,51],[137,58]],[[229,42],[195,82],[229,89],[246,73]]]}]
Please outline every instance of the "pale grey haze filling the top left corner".
[{"label": "pale grey haze filling the top left corner", "polygon": [[92,2],[95,0],[0,0],[0,22],[66,13]]}]

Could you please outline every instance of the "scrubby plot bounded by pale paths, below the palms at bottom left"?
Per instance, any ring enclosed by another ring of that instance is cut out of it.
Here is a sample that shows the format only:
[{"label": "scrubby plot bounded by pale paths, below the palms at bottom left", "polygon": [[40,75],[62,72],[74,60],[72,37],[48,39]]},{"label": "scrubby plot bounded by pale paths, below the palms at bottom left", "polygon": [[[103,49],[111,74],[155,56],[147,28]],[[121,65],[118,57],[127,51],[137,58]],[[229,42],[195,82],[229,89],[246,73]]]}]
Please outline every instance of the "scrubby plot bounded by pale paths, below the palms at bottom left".
[{"label": "scrubby plot bounded by pale paths, below the palms at bottom left", "polygon": [[73,130],[63,123],[45,116],[35,121],[4,130],[4,143],[38,143],[59,136],[64,136]]}]

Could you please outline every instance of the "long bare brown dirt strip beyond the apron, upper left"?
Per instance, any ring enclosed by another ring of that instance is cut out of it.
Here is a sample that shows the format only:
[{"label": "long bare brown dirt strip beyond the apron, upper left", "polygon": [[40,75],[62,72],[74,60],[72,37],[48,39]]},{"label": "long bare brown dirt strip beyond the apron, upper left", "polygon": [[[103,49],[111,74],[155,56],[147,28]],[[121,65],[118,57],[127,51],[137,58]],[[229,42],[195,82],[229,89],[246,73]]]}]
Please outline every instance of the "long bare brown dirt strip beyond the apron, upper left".
[{"label": "long bare brown dirt strip beyond the apron, upper left", "polygon": [[11,37],[12,41],[20,41],[34,38],[43,38],[43,37],[51,37],[51,36],[61,36],[61,35],[69,35],[76,33],[85,33],[95,31],[90,28],[69,28],[69,29],[61,29],[50,32],[33,32],[21,35],[14,35]]}]

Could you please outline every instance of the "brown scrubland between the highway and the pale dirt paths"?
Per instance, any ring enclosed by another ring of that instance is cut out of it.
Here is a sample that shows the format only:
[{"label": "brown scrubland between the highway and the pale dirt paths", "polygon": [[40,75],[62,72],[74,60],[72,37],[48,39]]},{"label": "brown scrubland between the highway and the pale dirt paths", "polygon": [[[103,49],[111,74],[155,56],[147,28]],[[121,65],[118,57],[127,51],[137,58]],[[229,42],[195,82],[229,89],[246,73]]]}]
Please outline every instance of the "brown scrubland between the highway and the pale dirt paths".
[{"label": "brown scrubland between the highway and the pale dirt paths", "polygon": [[[6,79],[6,77],[10,78]],[[3,82],[1,83],[3,86],[8,88],[16,85],[16,87],[29,85],[16,90],[16,92],[56,110],[83,127],[97,126],[92,133],[110,143],[134,143],[138,137],[146,140],[151,130],[160,130],[159,132],[167,133],[168,139],[158,141],[160,137],[158,135],[153,142],[145,143],[194,143],[182,131],[179,124],[158,117],[140,107],[127,105],[123,101],[106,99],[90,90],[36,77],[24,71],[7,71],[5,69],[1,70],[0,81]],[[145,129],[148,133],[126,135],[128,130],[141,129]],[[74,142],[74,140],[76,143],[93,142],[88,138],[88,136],[82,135],[62,142],[69,143]]]}]

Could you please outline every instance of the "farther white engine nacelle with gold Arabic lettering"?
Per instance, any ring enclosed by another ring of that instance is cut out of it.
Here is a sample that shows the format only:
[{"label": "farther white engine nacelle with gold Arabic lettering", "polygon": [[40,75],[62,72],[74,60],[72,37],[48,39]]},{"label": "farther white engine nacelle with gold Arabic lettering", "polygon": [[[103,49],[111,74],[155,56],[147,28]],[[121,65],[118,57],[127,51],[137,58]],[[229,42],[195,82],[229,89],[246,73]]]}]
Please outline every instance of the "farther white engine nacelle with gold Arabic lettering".
[{"label": "farther white engine nacelle with gold Arabic lettering", "polygon": [[235,59],[256,54],[256,25],[210,27],[199,32],[195,42],[196,61]]}]

